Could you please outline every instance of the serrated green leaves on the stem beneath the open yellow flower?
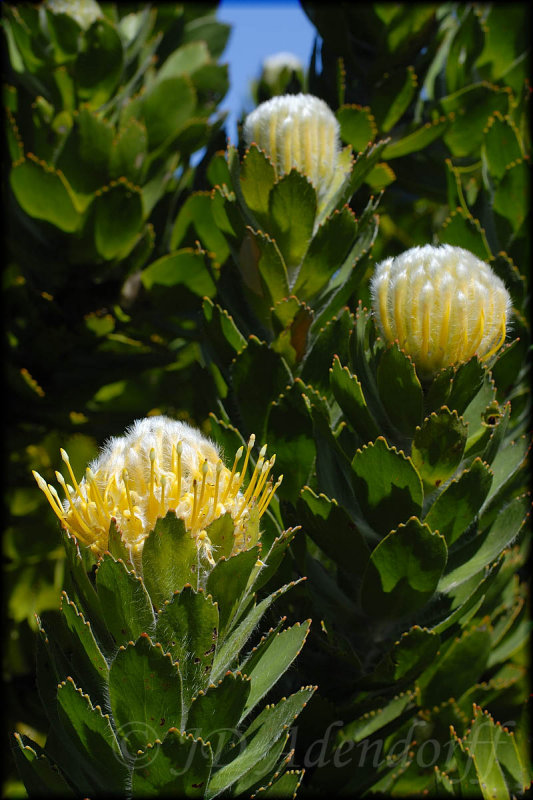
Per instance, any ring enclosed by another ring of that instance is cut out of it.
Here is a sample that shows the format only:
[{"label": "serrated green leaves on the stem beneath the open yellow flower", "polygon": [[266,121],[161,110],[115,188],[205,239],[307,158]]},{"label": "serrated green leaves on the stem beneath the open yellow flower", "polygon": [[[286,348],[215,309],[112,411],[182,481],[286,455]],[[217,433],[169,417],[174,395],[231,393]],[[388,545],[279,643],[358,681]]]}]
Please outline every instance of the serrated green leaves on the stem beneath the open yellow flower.
[{"label": "serrated green leaves on the stem beneath the open yellow flower", "polygon": [[310,621],[285,627],[282,618],[250,643],[294,585],[257,598],[295,532],[267,535],[264,553],[256,544],[230,556],[226,515],[209,526],[217,552],[209,570],[171,512],[148,536],[140,570],[113,523],[98,559],[65,534],[60,613],[39,620],[47,741],[43,749],[15,739],[28,789],[216,797],[281,782],[294,791],[301,772],[287,771],[287,728],[314,687],[258,706],[297,657]]}]

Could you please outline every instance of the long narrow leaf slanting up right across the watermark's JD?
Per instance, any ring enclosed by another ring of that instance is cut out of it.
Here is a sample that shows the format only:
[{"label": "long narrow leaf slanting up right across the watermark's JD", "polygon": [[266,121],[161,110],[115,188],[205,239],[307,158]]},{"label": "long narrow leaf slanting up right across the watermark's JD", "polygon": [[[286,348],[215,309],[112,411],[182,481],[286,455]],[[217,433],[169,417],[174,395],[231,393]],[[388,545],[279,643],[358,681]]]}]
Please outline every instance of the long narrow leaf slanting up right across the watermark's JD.
[{"label": "long narrow leaf slanting up right across the watermark's JD", "polygon": [[255,718],[236,744],[236,750],[239,753],[237,757],[221,767],[211,778],[208,798],[228,789],[251,770],[261,758],[266,756],[279,737],[284,734],[286,728],[292,724],[305,707],[313,691],[313,687],[300,689],[290,697],[281,700],[277,705],[267,706]]}]

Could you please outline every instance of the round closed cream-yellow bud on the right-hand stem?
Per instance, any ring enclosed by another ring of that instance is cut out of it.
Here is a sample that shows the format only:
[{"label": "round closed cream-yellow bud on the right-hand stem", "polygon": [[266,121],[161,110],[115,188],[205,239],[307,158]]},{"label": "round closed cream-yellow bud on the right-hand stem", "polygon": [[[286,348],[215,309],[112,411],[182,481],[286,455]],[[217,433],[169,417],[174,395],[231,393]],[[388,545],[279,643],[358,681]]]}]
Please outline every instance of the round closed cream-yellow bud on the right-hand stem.
[{"label": "round closed cream-yellow bud on the right-hand stem", "polygon": [[503,344],[511,299],[485,262],[462,247],[424,245],[377,264],[370,283],[379,328],[421,378]]}]

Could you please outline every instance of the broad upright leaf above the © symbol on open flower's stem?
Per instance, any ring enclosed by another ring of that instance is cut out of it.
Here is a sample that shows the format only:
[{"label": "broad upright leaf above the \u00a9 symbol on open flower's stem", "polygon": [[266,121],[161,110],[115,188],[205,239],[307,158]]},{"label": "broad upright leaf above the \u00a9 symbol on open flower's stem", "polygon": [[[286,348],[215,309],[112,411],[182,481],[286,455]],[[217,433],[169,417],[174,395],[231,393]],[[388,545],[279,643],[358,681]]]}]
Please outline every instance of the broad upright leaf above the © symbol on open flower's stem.
[{"label": "broad upright leaf above the \u00a9 symbol on open flower's stem", "polygon": [[147,634],[120,647],[109,671],[109,702],[117,733],[133,755],[182,725],[177,664]]}]

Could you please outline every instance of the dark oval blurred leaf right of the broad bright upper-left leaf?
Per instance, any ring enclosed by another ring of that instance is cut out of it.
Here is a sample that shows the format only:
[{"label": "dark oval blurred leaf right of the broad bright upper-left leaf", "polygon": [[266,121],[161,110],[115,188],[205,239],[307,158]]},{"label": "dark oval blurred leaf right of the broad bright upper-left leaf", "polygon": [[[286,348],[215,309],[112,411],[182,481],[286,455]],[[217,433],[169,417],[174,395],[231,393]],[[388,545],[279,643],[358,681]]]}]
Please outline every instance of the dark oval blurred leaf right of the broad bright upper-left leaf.
[{"label": "dark oval blurred leaf right of the broad bright upper-left leaf", "polygon": [[96,192],[94,243],[98,253],[106,260],[128,255],[143,222],[141,191],[133,184],[119,180]]}]

